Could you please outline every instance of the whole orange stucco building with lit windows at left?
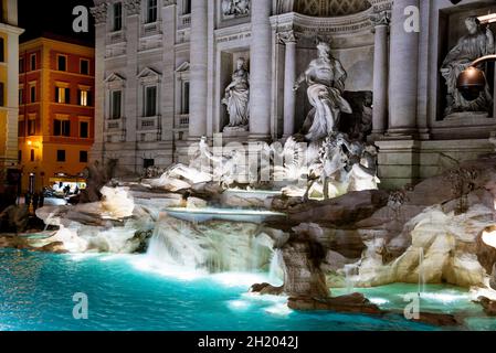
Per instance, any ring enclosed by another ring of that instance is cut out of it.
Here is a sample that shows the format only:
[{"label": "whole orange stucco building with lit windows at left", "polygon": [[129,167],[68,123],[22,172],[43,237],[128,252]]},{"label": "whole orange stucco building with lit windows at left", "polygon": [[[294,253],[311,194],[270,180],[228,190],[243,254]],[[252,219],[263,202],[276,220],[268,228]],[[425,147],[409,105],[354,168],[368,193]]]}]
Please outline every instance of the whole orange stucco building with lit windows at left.
[{"label": "whole orange stucco building with lit windows at left", "polygon": [[35,39],[20,45],[19,164],[22,190],[77,178],[94,142],[95,51]]}]

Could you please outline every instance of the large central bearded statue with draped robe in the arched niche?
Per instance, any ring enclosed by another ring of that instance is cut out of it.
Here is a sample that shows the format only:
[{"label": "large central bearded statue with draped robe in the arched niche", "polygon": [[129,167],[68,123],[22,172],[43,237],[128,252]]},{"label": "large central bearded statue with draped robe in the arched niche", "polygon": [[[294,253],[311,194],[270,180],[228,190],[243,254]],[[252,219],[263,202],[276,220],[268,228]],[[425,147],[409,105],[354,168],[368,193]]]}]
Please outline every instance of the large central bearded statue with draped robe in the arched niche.
[{"label": "large central bearded statue with draped robe in the arched niche", "polygon": [[304,125],[308,141],[325,139],[338,131],[341,113],[351,114],[349,103],[342,98],[345,82],[348,77],[342,64],[330,53],[330,46],[320,42],[317,45],[318,58],[298,77],[294,90],[306,82],[308,99],[314,107]]}]

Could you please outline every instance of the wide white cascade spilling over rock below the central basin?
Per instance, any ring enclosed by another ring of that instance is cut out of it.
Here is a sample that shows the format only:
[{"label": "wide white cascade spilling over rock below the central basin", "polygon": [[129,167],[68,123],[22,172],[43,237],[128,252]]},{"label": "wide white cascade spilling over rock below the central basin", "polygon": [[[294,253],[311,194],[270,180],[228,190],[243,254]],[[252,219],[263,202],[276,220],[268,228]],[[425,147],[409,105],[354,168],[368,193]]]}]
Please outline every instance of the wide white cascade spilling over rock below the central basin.
[{"label": "wide white cascade spilling over rock below the central basin", "polygon": [[193,224],[166,216],[157,222],[147,258],[155,266],[189,271],[266,271],[273,250],[256,237],[256,224]]}]

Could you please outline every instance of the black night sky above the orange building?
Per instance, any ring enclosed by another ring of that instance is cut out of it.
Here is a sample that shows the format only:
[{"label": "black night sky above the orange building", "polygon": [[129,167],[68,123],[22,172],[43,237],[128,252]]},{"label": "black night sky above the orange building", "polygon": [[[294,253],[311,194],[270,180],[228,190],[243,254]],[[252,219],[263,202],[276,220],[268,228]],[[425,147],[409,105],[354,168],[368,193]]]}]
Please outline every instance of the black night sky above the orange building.
[{"label": "black night sky above the orange building", "polygon": [[95,41],[94,22],[89,14],[89,33],[75,33],[72,23],[74,7],[93,7],[93,0],[19,0],[19,26],[25,32],[21,42],[51,34],[71,42],[93,45]]}]

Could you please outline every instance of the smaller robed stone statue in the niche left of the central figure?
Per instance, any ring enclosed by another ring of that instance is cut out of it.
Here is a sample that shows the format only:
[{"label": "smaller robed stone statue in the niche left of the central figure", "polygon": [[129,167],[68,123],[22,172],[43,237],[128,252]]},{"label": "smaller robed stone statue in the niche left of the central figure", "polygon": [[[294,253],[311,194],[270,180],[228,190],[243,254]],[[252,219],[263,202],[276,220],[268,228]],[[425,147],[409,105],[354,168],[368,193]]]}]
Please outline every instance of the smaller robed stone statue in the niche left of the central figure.
[{"label": "smaller robed stone statue in the niche left of the central figure", "polygon": [[232,83],[225,88],[222,104],[228,107],[229,125],[224,130],[249,129],[250,121],[250,73],[245,67],[246,61],[240,57],[236,69],[232,75]]}]

